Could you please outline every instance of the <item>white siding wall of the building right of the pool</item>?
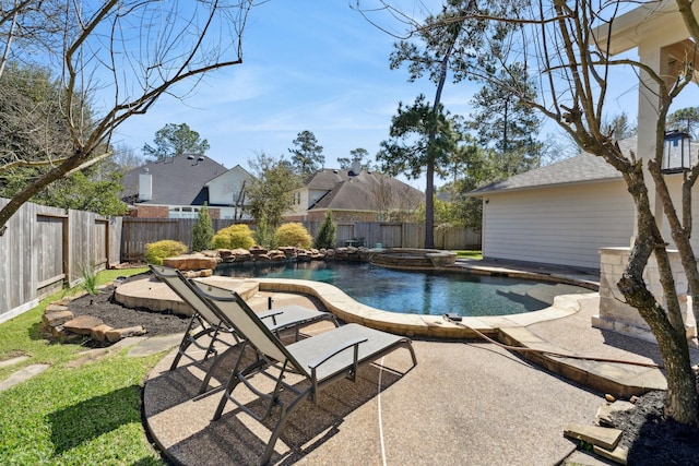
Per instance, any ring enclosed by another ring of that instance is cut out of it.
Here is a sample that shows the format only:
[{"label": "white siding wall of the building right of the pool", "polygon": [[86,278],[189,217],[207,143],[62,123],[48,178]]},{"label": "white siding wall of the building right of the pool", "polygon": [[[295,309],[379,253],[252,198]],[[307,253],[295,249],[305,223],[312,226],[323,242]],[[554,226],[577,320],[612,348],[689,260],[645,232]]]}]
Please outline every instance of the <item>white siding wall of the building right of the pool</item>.
[{"label": "white siding wall of the building right of the pool", "polygon": [[600,268],[599,249],[628,247],[633,203],[623,181],[488,194],[483,255]]}]

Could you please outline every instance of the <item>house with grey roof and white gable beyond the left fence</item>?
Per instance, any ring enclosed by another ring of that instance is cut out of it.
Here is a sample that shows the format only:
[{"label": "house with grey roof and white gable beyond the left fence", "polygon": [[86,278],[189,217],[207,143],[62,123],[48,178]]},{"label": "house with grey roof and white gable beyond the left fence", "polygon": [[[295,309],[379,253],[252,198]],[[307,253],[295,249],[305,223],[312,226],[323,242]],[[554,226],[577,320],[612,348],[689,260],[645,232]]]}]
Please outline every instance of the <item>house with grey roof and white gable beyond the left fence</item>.
[{"label": "house with grey roof and white gable beyond the left fence", "polygon": [[196,218],[208,204],[212,218],[249,219],[246,187],[252,176],[205,156],[152,162],[123,176],[123,200],[135,217]]}]

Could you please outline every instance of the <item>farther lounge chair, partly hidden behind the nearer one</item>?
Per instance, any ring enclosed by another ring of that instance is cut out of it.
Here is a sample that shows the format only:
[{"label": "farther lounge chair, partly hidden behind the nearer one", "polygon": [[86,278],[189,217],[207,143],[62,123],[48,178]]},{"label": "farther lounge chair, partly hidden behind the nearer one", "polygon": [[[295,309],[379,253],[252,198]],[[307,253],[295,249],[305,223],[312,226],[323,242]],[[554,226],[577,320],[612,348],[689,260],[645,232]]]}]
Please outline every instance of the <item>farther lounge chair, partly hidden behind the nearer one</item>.
[{"label": "farther lounge chair, partly hidden behind the nearer one", "polygon": [[[179,344],[175,360],[170,365],[170,370],[175,370],[177,368],[182,356],[190,359],[194,363],[199,363],[203,360],[208,360],[211,356],[218,356],[218,350],[215,347],[216,344],[222,344],[226,347],[230,347],[232,345],[240,343],[240,337],[238,334],[236,334],[233,326],[230,326],[227,322],[220,318],[216,311],[212,309],[210,302],[205,299],[202,299],[194,291],[191,283],[182,275],[180,271],[163,265],[150,265],[150,267],[156,277],[165,282],[173,289],[173,291],[177,294],[177,296],[179,296],[194,310],[194,313],[189,321],[187,331],[185,332],[185,335],[182,336],[182,339]],[[200,285],[204,286],[203,284]],[[228,289],[217,288],[209,285],[206,285],[206,289],[209,290],[209,292],[222,297],[230,296],[232,294],[232,291]],[[273,332],[279,333],[281,331],[294,328],[296,332],[295,339],[298,339],[299,330],[301,326],[313,322],[329,320],[335,326],[339,325],[334,314],[330,312],[321,312],[316,309],[307,309],[295,304],[260,312],[259,316],[260,319],[262,319],[264,324]],[[230,335],[230,338],[228,338],[228,340],[226,340],[225,338],[221,338],[221,336],[225,334]],[[208,337],[206,346],[199,343],[200,338],[204,336]],[[203,359],[193,358],[187,353],[187,349],[191,345],[194,345],[197,348],[204,350]],[[209,381],[211,380],[211,377],[215,371],[215,368],[216,362],[214,360],[214,363],[206,371],[206,375],[202,381],[200,393],[205,392],[209,385]]]}]

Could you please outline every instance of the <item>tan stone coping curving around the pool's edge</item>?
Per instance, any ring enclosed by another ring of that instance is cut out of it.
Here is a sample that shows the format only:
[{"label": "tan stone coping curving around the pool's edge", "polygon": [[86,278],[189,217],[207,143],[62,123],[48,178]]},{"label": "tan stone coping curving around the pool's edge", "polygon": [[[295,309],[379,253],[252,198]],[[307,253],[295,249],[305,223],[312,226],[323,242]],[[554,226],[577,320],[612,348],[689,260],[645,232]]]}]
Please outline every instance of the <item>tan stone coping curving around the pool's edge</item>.
[{"label": "tan stone coping curving around the pool's edge", "polygon": [[[391,267],[390,267],[391,268]],[[420,270],[419,267],[410,267]],[[425,270],[424,267],[422,270]],[[430,271],[446,271],[452,273],[473,273],[479,275],[507,276],[512,278],[534,279],[549,283],[564,283],[591,288],[591,294],[596,291],[599,283],[591,279],[592,275],[573,275],[571,271],[555,271],[554,268],[541,268],[537,271],[514,268],[505,264],[489,264],[484,261],[458,261],[447,267],[429,268]],[[565,273],[568,272],[568,273]],[[574,271],[572,271],[574,272]],[[372,328],[382,330],[408,337],[426,338],[479,338],[481,334],[490,337],[498,336],[501,330],[523,327],[538,322],[561,319],[580,310],[579,299],[590,294],[559,295],[554,298],[552,306],[538,311],[530,311],[518,314],[505,314],[493,316],[463,316],[461,322],[451,322],[445,319],[443,313],[453,312],[445,309],[440,314],[414,314],[384,311],[363,304],[334,285],[298,278],[236,278],[226,276],[210,276],[197,278],[204,283],[227,287],[238,291],[244,299],[251,298],[257,290],[263,292],[292,292],[301,294],[318,299],[323,307],[334,313],[339,319],[348,323],[359,323]],[[159,301],[159,308],[177,310],[182,308],[182,313],[191,315],[189,306],[181,302],[165,284],[157,286],[158,280],[150,279],[147,286],[137,285],[130,288],[123,284],[117,288],[118,300],[135,306],[130,298],[146,299],[152,306],[153,301]],[[144,288],[144,289],[139,289]],[[139,304],[142,306],[142,302]]]}]

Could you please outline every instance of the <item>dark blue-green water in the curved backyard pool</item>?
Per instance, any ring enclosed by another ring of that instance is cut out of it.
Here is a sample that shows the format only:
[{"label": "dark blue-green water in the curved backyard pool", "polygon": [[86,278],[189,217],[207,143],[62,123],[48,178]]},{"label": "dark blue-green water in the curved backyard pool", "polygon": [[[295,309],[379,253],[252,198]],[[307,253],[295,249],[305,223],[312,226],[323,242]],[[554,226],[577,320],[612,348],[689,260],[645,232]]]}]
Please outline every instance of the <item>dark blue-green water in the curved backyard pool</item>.
[{"label": "dark blue-green water in the curved backyard pool", "polygon": [[323,282],[372,308],[412,314],[517,314],[547,308],[558,295],[592,292],[583,287],[565,284],[467,272],[399,271],[368,263],[346,262],[220,265],[215,274]]}]

